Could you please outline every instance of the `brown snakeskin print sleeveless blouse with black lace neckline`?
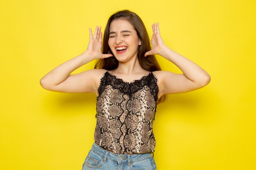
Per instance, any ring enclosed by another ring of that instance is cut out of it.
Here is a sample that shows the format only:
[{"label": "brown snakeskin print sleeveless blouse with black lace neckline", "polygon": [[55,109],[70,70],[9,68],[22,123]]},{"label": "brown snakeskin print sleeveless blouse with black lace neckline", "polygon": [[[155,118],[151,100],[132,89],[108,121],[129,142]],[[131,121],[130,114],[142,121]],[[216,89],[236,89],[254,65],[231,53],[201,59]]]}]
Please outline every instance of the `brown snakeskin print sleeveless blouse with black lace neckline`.
[{"label": "brown snakeskin print sleeveless blouse with black lace neckline", "polygon": [[106,71],[98,89],[95,143],[115,154],[154,152],[158,91],[152,72],[124,82]]}]

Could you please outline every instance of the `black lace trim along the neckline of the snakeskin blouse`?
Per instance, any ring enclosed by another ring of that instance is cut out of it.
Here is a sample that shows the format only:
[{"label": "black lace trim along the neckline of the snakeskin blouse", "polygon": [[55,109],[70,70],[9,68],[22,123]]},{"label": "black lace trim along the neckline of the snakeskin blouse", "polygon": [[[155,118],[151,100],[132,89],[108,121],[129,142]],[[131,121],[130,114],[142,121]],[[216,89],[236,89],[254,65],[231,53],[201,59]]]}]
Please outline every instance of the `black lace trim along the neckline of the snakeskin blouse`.
[{"label": "black lace trim along the neckline of the snakeskin blouse", "polygon": [[[141,77],[140,79],[134,80],[133,82],[125,82],[123,79],[112,75],[108,71],[103,75],[98,88],[99,96],[103,93],[107,85],[111,85],[114,89],[119,89],[124,94],[132,95],[137,91],[141,90],[144,86],[150,88],[150,93],[154,96],[155,102],[158,100],[158,80],[155,75],[150,72],[148,75]],[[97,98],[98,98],[97,97]]]}]

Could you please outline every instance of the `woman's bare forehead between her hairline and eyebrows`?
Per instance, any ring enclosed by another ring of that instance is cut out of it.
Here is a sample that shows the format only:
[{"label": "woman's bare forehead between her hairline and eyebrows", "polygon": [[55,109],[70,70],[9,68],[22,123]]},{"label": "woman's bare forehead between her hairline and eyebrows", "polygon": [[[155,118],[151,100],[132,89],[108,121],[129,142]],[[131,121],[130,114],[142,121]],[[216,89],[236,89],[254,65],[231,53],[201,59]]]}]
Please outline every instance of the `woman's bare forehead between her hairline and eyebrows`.
[{"label": "woman's bare forehead between her hairline and eyebrows", "polygon": [[110,23],[110,27],[109,27],[109,31],[122,31],[122,30],[129,30],[129,31],[135,31],[134,27],[132,26],[132,24],[130,24],[128,21],[126,20],[113,20]]}]

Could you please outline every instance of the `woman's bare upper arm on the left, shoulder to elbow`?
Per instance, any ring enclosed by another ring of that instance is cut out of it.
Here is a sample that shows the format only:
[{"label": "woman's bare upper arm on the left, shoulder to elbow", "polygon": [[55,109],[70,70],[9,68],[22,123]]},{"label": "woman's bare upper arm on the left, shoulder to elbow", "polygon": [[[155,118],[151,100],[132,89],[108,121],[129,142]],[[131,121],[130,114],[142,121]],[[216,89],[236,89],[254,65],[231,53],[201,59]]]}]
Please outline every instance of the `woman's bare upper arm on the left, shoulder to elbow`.
[{"label": "woman's bare upper arm on the left, shoulder to elbow", "polygon": [[46,88],[50,91],[57,91],[63,93],[95,93],[97,95],[97,87],[101,76],[103,75],[103,69],[92,69],[83,71],[78,74],[72,74],[67,77],[63,82]]}]

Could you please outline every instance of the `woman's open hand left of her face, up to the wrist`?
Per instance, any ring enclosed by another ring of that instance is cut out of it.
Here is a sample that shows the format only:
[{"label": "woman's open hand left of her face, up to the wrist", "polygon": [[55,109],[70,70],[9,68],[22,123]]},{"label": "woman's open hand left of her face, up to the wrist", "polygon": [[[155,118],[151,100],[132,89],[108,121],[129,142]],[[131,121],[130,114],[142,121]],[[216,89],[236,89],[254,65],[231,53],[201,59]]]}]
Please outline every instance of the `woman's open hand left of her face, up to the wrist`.
[{"label": "woman's open hand left of her face, up to the wrist", "polygon": [[94,35],[92,35],[92,29],[89,28],[90,31],[90,42],[88,45],[87,50],[85,53],[87,53],[92,59],[103,59],[112,57],[112,54],[103,54],[101,52],[102,48],[102,32],[101,32],[101,26],[96,26]]}]

